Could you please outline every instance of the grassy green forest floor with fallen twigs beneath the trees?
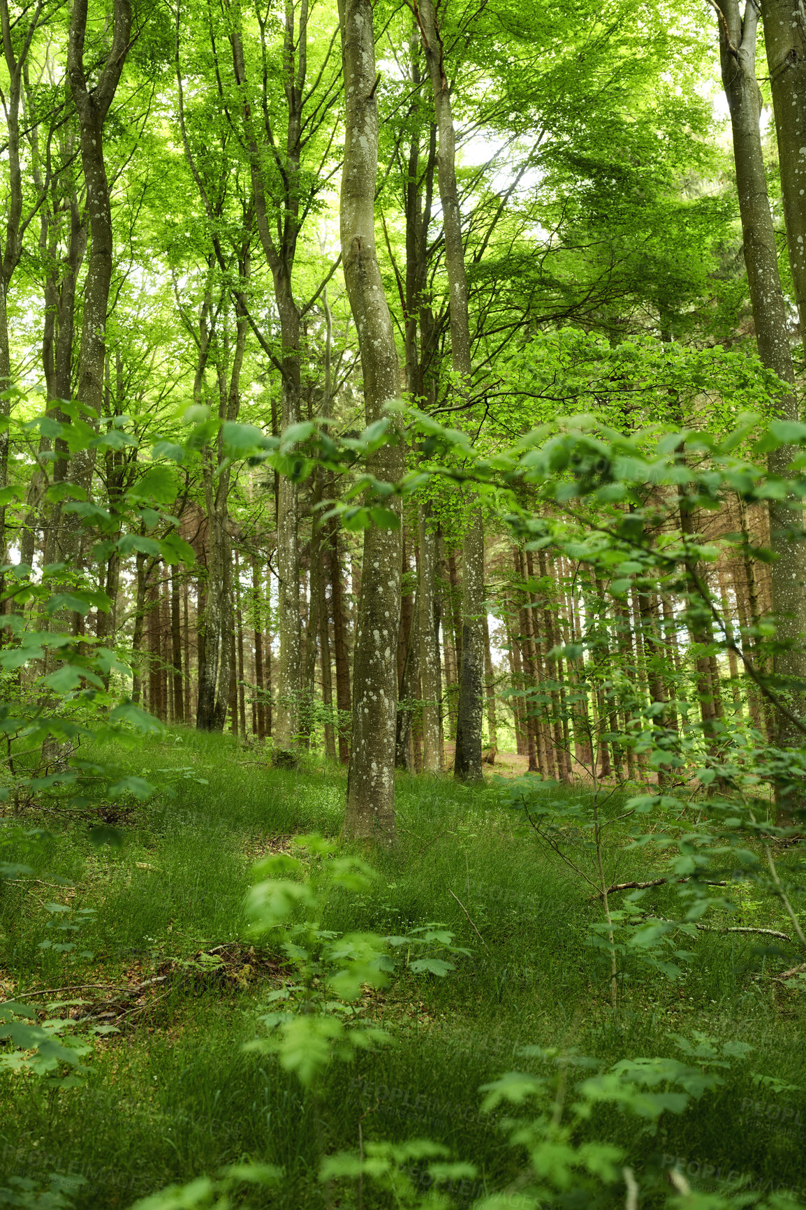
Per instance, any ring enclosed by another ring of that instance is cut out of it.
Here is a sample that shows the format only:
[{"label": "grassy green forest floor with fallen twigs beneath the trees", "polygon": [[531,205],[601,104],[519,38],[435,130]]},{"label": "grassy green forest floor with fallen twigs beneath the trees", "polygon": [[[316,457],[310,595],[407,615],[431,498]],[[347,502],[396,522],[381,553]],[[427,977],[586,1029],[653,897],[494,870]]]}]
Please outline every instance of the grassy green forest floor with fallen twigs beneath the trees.
[{"label": "grassy green forest floor with fallen twigs beneath the trees", "polygon": [[[24,822],[52,836],[38,881],[6,886],[0,897],[0,999],[85,999],[120,1030],[94,1043],[80,1087],[48,1091],[0,1078],[0,1187],[15,1175],[46,1185],[52,1172],[73,1174],[84,1179],[80,1210],[123,1208],[248,1158],[286,1170],[278,1192],[254,1192],[249,1205],[322,1206],[323,1151],[426,1137],[477,1165],[477,1179],[449,1191],[468,1206],[522,1170],[478,1091],[502,1072],[535,1070],[539,1060],[522,1047],[575,1049],[604,1070],[622,1058],[679,1058],[673,1035],[695,1030],[752,1051],[718,1089],[667,1114],[657,1135],[609,1110],[594,1114],[591,1137],[627,1150],[649,1191],[644,1208],[663,1204],[663,1172],[674,1163],[703,1189],[724,1188],[731,1174],[755,1188],[805,1183],[806,996],[775,978],[800,961],[794,946],[698,933],[681,979],[631,970],[614,1012],[603,956],[586,944],[601,904],[535,836],[518,835],[496,770],[472,789],[450,777],[401,777],[399,848],[376,854],[374,889],[336,898],[324,923],[386,934],[437,921],[471,955],[444,979],[404,972],[368,996],[364,1014],[393,1044],[333,1064],[313,1099],[275,1059],[243,1050],[280,978],[277,955],[246,934],[243,904],[257,857],[299,832],[338,836],[342,771],[313,762],[269,770],[228,737],[185,730],[119,756],[154,782],[173,774],[175,795],[117,808],[120,848],[94,848],[87,817],[30,809]],[[609,877],[651,877],[649,851],[626,845],[614,830]],[[589,860],[582,846],[577,857]],[[672,895],[660,888],[644,903],[663,914]],[[82,922],[71,953],[40,947],[53,935],[52,900]],[[765,911],[747,899],[733,922],[785,930]],[[92,957],[75,956],[87,951]],[[350,1194],[330,1204],[358,1205]],[[364,1189],[365,1210],[387,1204]],[[623,1189],[600,1204],[623,1205]]]}]

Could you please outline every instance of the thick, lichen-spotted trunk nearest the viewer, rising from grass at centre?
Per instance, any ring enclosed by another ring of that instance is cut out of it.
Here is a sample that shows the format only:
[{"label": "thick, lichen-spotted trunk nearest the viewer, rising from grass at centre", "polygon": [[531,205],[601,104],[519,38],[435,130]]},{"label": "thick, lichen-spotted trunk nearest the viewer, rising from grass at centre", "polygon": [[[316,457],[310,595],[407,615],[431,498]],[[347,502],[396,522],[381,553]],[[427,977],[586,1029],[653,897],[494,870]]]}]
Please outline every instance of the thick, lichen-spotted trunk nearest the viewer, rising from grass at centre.
[{"label": "thick, lichen-spotted trunk nearest the viewer, rising from grass at centre", "polygon": [[[367,424],[399,396],[392,318],[375,250],[378,98],[372,0],[340,0],[345,85],[345,146],[340,230],[344,277],[358,329]],[[379,479],[403,471],[401,448],[384,445],[368,459]],[[392,497],[395,500],[395,497]],[[391,503],[388,501],[387,503]],[[396,843],[396,646],[401,617],[399,500],[397,529],[364,530],[363,572],[353,656],[352,754],[345,835]]]}]

